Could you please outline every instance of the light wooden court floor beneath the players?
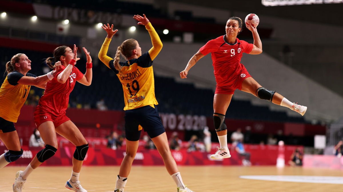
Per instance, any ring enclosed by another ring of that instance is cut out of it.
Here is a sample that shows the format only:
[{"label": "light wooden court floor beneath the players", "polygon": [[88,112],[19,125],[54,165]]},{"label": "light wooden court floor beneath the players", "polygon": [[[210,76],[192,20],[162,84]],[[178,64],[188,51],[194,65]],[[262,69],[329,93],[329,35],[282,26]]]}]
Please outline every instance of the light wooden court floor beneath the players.
[{"label": "light wooden court floor beneath the players", "polygon": [[[0,169],[0,191],[12,191],[17,170],[25,167],[7,166]],[[299,183],[241,179],[241,175],[307,175],[343,176],[341,170],[305,169],[272,166],[180,166],[184,183],[195,192],[221,191],[343,191],[343,184]],[[89,192],[114,191],[118,166],[84,166],[80,181]],[[70,191],[64,183],[70,178],[71,167],[38,167],[27,179],[23,192]],[[176,192],[174,181],[163,166],[133,166],[125,192]]]}]

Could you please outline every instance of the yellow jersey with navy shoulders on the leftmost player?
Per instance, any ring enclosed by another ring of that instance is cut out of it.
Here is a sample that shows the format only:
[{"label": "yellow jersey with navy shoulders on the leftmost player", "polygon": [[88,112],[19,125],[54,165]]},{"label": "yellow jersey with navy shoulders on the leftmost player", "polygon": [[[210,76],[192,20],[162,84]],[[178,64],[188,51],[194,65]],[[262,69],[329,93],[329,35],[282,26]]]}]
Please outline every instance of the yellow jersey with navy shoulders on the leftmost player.
[{"label": "yellow jersey with navy shoulders on the leftmost player", "polygon": [[[26,73],[26,76],[36,77],[31,73]],[[18,71],[10,72],[0,88],[0,117],[13,123],[17,122],[31,88],[17,83],[22,77],[24,75]]]}]

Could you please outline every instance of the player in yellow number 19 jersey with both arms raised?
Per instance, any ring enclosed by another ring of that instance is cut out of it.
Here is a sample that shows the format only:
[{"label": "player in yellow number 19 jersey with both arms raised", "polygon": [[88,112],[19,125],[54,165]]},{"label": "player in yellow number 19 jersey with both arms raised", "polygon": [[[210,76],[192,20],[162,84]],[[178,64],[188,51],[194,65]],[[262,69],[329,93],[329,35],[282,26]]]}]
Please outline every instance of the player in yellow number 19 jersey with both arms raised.
[{"label": "player in yellow number 19 jersey with both arms raised", "polygon": [[[136,155],[141,129],[151,137],[158,152],[161,154],[168,173],[177,184],[179,192],[191,192],[182,182],[176,162],[171,155],[167,135],[161,118],[156,108],[154,72],[152,63],[162,49],[162,42],[155,29],[143,14],[134,15],[139,25],[144,25],[149,32],[152,48],[142,54],[141,47],[134,39],[125,40],[118,48],[115,58],[108,57],[107,50],[113,35],[118,30],[113,30],[109,24],[102,28],[107,32],[107,37],[99,52],[99,59],[119,78],[124,91],[125,99],[125,137],[126,154],[120,165],[115,192],[123,192],[127,177],[129,176],[133,159]],[[125,62],[119,61],[120,54],[125,57]]]}]

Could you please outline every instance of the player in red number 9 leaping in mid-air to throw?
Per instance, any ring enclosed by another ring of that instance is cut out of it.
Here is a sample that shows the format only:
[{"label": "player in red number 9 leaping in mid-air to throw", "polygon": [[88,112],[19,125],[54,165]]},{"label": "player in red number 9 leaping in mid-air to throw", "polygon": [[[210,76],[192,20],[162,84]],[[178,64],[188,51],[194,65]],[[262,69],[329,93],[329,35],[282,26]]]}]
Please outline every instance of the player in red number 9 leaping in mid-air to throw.
[{"label": "player in red number 9 leaping in mid-air to throw", "polygon": [[253,44],[237,38],[242,30],[242,23],[239,17],[230,17],[225,26],[226,34],[212,39],[202,46],[188,61],[185,70],[180,72],[181,79],[187,78],[189,69],[203,56],[211,53],[217,83],[213,98],[213,122],[220,143],[220,147],[217,147],[218,151],[211,155],[212,159],[231,157],[227,148],[227,130],[224,120],[226,110],[236,89],[251,93],[260,99],[269,100],[276,105],[288,107],[301,115],[304,115],[307,110],[307,107],[297,105],[279,93],[262,87],[250,76],[244,65],[240,63],[243,53],[252,55],[262,53],[262,42],[256,27],[246,23],[247,28],[252,32]]}]

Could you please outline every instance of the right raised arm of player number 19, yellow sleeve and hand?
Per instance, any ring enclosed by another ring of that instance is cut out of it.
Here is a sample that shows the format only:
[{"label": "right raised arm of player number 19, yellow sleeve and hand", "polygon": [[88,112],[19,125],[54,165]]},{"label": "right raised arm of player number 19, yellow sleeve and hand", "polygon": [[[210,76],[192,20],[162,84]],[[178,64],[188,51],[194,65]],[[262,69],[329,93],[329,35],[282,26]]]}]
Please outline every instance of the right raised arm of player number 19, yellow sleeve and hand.
[{"label": "right raised arm of player number 19, yellow sleeve and hand", "polygon": [[149,32],[151,43],[152,43],[152,47],[149,50],[149,55],[150,55],[151,60],[154,60],[162,49],[162,46],[163,46],[162,41],[161,39],[159,39],[157,32],[155,31],[154,27],[149,22],[149,19],[146,18],[145,14],[143,14],[143,17],[140,15],[134,15],[133,18],[139,21],[138,22],[139,25],[144,25],[145,29]]}]

